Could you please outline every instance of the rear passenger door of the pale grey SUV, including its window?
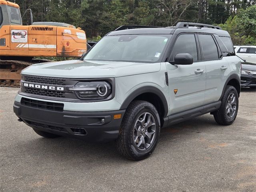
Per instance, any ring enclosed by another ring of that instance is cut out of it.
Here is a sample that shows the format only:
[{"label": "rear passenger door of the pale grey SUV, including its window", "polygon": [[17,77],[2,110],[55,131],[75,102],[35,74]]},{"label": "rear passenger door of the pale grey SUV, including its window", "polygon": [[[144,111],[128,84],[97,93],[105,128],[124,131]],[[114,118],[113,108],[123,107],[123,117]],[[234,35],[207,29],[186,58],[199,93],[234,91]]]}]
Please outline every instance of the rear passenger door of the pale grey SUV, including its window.
[{"label": "rear passenger door of the pale grey SUV, including its window", "polygon": [[206,90],[204,104],[218,101],[230,67],[222,57],[220,48],[211,34],[198,34],[201,59],[206,65]]}]

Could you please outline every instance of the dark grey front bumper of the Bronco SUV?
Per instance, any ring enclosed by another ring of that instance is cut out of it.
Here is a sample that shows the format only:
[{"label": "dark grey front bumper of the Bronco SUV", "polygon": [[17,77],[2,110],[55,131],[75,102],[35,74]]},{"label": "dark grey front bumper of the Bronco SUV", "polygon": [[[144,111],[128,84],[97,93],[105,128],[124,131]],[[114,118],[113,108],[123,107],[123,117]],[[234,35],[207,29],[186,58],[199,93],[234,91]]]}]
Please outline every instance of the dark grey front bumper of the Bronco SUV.
[{"label": "dark grey front bumper of the Bronco SUV", "polygon": [[[89,142],[108,142],[118,137],[125,110],[104,112],[52,111],[14,102],[13,110],[28,126]],[[114,119],[115,114],[121,118]],[[104,119],[104,120],[103,120]]]}]

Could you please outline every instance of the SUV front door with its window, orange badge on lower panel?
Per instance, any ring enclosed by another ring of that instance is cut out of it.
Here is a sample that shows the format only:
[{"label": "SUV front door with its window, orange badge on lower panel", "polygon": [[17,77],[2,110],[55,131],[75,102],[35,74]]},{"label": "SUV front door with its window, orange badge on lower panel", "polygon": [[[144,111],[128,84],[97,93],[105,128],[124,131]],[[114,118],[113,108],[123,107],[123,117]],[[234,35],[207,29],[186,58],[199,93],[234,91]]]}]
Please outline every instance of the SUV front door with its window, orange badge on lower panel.
[{"label": "SUV front door with its window, orange badge on lower panel", "polygon": [[189,53],[194,58],[191,65],[172,65],[166,62],[169,80],[170,114],[192,109],[204,104],[206,66],[200,62],[199,46],[194,34],[181,34],[176,39],[170,60],[178,53]]}]

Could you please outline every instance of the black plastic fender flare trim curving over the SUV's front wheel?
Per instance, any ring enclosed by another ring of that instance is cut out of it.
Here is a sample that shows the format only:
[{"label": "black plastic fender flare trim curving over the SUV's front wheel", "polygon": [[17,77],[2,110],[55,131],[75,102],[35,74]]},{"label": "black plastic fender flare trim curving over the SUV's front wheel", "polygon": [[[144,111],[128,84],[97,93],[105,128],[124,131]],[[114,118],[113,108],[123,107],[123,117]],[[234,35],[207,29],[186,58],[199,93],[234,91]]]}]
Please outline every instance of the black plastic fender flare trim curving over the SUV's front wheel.
[{"label": "black plastic fender flare trim curving over the SUV's front wheel", "polygon": [[144,86],[141,88],[138,88],[136,90],[134,90],[122,103],[120,110],[126,109],[128,107],[128,105],[132,102],[132,100],[134,100],[137,96],[139,96],[140,94],[143,93],[153,93],[156,94],[159,98],[160,98],[160,103],[162,103],[162,106],[164,108],[164,117],[167,116],[168,114],[168,102],[164,96],[164,94],[162,93],[162,91],[160,91],[158,88],[154,87],[154,86]]}]

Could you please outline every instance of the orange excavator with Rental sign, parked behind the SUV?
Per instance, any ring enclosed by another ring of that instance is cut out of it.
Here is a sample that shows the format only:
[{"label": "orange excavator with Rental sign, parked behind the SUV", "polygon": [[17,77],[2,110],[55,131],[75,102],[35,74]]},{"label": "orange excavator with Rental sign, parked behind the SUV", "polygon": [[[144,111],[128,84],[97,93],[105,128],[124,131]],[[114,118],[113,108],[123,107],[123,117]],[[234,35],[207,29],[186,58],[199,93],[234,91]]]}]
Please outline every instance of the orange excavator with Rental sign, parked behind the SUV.
[{"label": "orange excavator with Rental sign, parked behind the SUV", "polygon": [[[33,22],[22,25],[18,4],[0,0],[0,86],[18,87],[27,66],[50,60],[34,57],[79,58],[87,51],[86,34],[70,24]],[[25,13],[26,13],[25,12]]]}]

